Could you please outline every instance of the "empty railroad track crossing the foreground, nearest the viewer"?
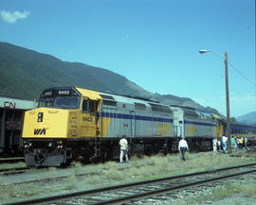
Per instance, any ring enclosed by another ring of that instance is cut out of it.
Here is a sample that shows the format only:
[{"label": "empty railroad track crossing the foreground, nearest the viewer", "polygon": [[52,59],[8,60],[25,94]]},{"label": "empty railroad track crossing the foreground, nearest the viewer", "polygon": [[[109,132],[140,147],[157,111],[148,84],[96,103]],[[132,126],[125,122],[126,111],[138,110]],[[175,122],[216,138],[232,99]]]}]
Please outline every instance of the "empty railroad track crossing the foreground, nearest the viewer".
[{"label": "empty railroad track crossing the foreground, nearest the viewer", "polygon": [[234,166],[223,169],[215,169],[206,172],[192,173],[164,179],[139,181],[105,187],[101,189],[65,194],[62,196],[50,196],[33,200],[21,201],[11,204],[134,204],[135,201],[154,200],[162,196],[172,197],[176,190],[207,183],[213,183],[223,179],[234,178],[246,174],[256,174],[256,163],[242,166]]}]

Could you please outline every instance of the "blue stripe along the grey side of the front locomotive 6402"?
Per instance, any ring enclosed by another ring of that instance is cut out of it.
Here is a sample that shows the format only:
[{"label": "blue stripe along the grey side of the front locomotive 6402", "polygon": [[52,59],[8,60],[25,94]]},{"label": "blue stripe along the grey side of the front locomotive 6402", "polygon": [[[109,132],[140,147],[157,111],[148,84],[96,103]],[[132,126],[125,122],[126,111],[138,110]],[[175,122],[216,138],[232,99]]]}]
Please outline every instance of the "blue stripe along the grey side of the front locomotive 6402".
[{"label": "blue stripe along the grey side of the front locomotive 6402", "polygon": [[[97,116],[99,117],[99,113],[97,114]],[[103,111],[101,111],[101,117],[128,119],[128,120],[133,119],[133,115],[131,114],[110,113],[110,112],[103,112]],[[134,115],[134,118],[136,120],[143,120],[143,121],[174,123],[174,119],[170,119],[170,118],[150,117],[150,116],[141,116],[141,115]]]}]

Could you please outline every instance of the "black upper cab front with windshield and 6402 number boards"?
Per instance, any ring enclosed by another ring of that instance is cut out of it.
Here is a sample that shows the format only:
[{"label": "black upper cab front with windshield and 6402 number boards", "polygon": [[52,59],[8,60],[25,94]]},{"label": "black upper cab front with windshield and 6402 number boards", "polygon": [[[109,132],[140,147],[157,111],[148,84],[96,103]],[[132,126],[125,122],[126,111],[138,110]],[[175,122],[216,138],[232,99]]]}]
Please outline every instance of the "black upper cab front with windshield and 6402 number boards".
[{"label": "black upper cab front with windshield and 6402 number boards", "polygon": [[72,89],[47,90],[41,94],[39,107],[79,109],[81,97]]}]

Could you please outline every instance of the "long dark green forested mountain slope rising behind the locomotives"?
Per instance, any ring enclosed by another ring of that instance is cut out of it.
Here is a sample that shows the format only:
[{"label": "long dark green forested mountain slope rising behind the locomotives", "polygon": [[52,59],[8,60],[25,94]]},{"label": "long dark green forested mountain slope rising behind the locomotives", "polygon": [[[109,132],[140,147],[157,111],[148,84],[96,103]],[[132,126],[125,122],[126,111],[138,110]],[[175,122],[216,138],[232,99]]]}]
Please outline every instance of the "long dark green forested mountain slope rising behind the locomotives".
[{"label": "long dark green forested mountain slope rising behind the locomotives", "polygon": [[0,43],[0,73],[0,95],[9,97],[38,99],[46,88],[76,86],[107,93],[140,96],[168,105],[219,114],[215,109],[205,108],[189,97],[153,94],[109,70],[80,62],[59,60],[10,43]]}]

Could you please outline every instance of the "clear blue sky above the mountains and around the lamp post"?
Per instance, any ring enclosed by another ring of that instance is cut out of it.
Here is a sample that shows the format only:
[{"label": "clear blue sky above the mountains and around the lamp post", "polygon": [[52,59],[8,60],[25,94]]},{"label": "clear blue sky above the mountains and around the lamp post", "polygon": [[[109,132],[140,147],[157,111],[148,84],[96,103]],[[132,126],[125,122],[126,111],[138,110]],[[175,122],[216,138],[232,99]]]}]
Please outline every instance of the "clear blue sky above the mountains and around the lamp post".
[{"label": "clear blue sky above the mountains and around the lamp post", "polygon": [[230,115],[256,111],[254,0],[0,0],[0,42],[99,66]]}]

